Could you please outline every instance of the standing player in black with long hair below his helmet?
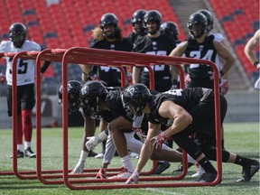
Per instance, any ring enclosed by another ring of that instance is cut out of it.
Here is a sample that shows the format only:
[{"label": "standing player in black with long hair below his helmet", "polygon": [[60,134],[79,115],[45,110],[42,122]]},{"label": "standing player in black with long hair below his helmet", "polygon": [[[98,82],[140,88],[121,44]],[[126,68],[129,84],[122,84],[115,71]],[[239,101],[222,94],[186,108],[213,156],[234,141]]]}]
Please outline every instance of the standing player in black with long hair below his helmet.
[{"label": "standing player in black with long hair below his helmet", "polygon": [[[132,51],[133,45],[122,36],[122,30],[118,26],[116,14],[103,14],[100,23],[93,30],[93,42],[90,48],[112,50],[112,51]],[[121,86],[121,72],[116,67],[107,66],[86,66],[79,65],[83,71],[83,75],[88,80],[99,80],[103,84],[112,87]],[[126,70],[126,69],[125,69]],[[87,124],[88,125],[88,124]],[[99,131],[106,129],[107,123],[101,119],[99,122]],[[102,158],[105,153],[105,144],[103,144],[102,153],[98,153],[97,158]]]}]

